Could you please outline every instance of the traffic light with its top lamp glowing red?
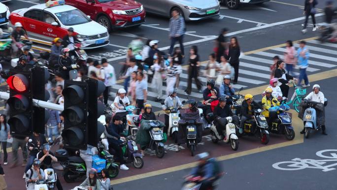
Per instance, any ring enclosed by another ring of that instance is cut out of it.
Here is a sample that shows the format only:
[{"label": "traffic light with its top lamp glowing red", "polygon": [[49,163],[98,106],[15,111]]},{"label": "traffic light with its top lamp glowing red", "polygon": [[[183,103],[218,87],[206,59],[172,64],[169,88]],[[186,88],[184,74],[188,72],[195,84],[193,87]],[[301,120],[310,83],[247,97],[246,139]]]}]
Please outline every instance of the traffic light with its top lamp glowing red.
[{"label": "traffic light with its top lamp glowing red", "polygon": [[10,132],[17,136],[29,136],[33,133],[32,72],[12,69],[7,83]]}]

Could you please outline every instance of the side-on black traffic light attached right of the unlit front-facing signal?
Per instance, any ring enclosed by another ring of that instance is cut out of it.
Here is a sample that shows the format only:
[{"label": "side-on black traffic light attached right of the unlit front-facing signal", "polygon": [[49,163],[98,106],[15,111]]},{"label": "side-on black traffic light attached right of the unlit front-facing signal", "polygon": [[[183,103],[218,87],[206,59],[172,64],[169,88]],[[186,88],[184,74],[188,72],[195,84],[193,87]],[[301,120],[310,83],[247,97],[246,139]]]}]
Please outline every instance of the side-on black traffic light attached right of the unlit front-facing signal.
[{"label": "side-on black traffic light attached right of the unlit front-facing signal", "polygon": [[94,147],[104,132],[104,126],[97,119],[104,113],[104,104],[98,100],[98,97],[105,89],[105,85],[101,80],[93,78],[84,79],[88,83],[89,88],[89,114],[88,114],[88,133],[90,138],[88,144]]}]

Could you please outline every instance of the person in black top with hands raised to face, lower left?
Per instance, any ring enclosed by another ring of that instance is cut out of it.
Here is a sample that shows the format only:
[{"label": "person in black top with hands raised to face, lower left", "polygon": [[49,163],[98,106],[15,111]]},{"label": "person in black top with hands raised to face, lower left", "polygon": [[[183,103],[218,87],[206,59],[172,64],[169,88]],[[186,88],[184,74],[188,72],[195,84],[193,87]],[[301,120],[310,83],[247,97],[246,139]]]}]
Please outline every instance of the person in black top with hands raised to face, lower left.
[{"label": "person in black top with hands raised to face, lower left", "polygon": [[[36,157],[41,162],[40,168],[42,170],[53,168],[53,162],[57,162],[57,158],[53,152],[50,152],[50,146],[48,144],[43,145],[42,152],[38,152]],[[56,180],[56,187],[58,190],[63,190],[59,179]]]}]

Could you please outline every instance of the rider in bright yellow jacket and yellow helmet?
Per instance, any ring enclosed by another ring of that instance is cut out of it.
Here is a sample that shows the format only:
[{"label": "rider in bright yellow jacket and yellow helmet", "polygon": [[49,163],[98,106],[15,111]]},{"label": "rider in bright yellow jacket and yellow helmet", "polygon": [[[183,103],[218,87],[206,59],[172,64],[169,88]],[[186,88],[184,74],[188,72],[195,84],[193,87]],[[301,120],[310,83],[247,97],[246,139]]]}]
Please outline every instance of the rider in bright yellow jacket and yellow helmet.
[{"label": "rider in bright yellow jacket and yellow helmet", "polygon": [[[280,105],[280,102],[277,101],[277,99],[275,97],[272,96],[272,93],[273,90],[268,87],[266,88],[265,90],[265,93],[266,95],[262,98],[262,105],[263,105],[263,108],[264,108],[264,111],[262,112],[263,115],[265,115],[265,117],[267,118],[267,122],[268,122],[268,125],[271,126],[271,122],[276,119],[277,117],[277,114],[278,114],[278,106]],[[275,102],[276,103],[275,103]],[[272,108],[272,107],[276,107],[275,108]],[[275,109],[274,111],[271,111]],[[277,112],[275,112],[277,111]]]}]

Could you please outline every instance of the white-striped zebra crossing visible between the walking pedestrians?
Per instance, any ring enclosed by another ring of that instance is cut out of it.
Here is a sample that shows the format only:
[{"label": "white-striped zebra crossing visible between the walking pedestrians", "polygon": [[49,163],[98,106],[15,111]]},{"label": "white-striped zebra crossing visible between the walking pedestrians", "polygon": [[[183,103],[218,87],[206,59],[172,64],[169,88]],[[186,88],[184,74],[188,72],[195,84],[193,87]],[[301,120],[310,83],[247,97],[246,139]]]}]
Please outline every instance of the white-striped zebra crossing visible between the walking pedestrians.
[{"label": "white-striped zebra crossing visible between the walking pedestrians", "polygon": [[[294,44],[296,49],[299,47],[299,44]],[[307,68],[307,74],[313,74],[318,72],[323,72],[329,69],[337,67],[337,44],[335,43],[321,43],[318,40],[307,41],[306,47],[309,49],[310,58],[309,58],[309,67]],[[270,65],[273,64],[272,58],[278,55],[283,59],[283,52],[285,47],[276,47],[266,51],[256,52],[249,55],[244,55],[240,58],[239,64],[239,77],[238,83],[233,85],[236,90],[239,88],[252,88],[260,85],[265,85],[269,83],[270,79]],[[187,58],[185,58],[185,63]],[[202,76],[205,63],[201,67],[201,76],[199,79],[204,84],[203,89],[206,85],[206,77]],[[187,99],[196,99],[202,100],[202,93],[198,92],[197,86],[192,81],[192,93],[189,96],[185,95],[184,90],[187,87],[187,67],[183,66],[183,73],[180,75],[180,84],[178,88],[177,96],[183,100]],[[295,68],[295,75],[299,75],[299,70]],[[217,86],[219,86],[217,84]],[[123,82],[118,83],[112,86],[111,95],[114,98],[116,92],[119,88],[123,88]],[[163,97],[166,98],[166,82],[163,83]],[[154,100],[157,97],[156,90],[151,88],[151,83],[148,83],[148,94],[147,94],[147,103],[151,104],[154,107],[154,111],[159,111],[162,108],[160,102],[155,102]]]}]

